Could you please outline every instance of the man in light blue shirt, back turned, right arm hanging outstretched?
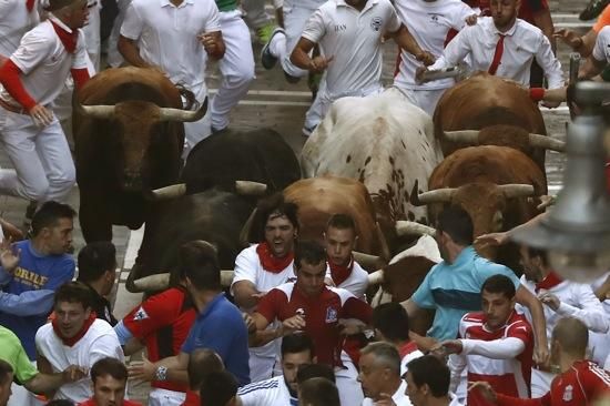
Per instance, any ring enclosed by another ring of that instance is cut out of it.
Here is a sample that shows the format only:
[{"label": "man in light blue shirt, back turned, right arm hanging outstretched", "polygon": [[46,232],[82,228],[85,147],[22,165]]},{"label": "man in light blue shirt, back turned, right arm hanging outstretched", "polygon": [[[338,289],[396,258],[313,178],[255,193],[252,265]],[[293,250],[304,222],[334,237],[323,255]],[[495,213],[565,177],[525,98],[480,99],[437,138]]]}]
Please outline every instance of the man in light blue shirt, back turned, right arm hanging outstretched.
[{"label": "man in light blue shirt, back turned, right arm hanging outstretched", "polygon": [[516,301],[532,314],[537,345],[535,359],[545,363],[548,349],[542,304],[521,286],[510,268],[479,256],[472,246],[472,221],[466,211],[451,206],[440,213],[435,238],[444,261],[428,272],[403,306],[410,318],[421,317],[425,309],[436,311],[427,335],[437,341],[454,339],[461,317],[481,309],[480,291],[485,281],[496,274],[506,275],[515,283]]}]

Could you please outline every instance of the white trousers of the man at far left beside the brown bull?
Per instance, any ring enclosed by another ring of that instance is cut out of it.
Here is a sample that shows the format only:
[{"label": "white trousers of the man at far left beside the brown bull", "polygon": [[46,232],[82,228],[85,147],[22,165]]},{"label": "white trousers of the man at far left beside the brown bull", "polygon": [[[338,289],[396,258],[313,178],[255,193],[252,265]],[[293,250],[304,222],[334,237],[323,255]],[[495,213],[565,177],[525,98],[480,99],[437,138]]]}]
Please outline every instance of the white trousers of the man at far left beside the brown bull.
[{"label": "white trousers of the man at far left beside the brown bull", "polygon": [[40,129],[29,115],[0,108],[0,141],[14,168],[0,170],[0,194],[65,201],[77,171],[57,118]]}]

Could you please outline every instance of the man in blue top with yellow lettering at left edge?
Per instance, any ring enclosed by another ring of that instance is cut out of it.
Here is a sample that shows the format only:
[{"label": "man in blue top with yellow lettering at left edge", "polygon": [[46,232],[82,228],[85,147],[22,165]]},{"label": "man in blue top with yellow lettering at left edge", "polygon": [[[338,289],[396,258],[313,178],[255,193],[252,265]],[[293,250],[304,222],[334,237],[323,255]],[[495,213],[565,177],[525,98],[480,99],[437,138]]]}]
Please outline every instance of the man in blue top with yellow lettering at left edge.
[{"label": "man in blue top with yellow lettering at left edge", "polygon": [[58,287],[74,276],[73,217],[68,204],[45,202],[32,217],[32,238],[0,245],[0,325],[35,359],[34,336],[53,307]]}]

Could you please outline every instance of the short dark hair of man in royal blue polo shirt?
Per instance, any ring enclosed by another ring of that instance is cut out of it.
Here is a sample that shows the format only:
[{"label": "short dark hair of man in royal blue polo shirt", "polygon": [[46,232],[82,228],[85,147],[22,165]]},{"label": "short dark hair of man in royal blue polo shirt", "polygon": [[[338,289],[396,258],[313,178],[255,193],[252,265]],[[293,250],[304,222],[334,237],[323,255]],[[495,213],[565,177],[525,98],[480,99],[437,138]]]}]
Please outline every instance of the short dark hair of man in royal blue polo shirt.
[{"label": "short dark hair of man in royal blue polo shirt", "polygon": [[187,277],[199,291],[220,291],[221,265],[216,248],[206,241],[187,242],[180,247],[179,275]]}]

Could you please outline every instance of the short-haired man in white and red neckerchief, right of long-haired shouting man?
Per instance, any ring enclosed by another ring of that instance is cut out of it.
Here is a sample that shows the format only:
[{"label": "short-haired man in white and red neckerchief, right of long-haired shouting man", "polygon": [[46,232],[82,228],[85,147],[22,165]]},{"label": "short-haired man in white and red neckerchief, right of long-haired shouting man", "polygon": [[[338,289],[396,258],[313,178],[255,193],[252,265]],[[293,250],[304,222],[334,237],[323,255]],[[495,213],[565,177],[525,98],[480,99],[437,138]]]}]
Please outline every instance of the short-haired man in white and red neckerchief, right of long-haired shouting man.
[{"label": "short-haired man in white and red neckerchief, right of long-haired shouting man", "polygon": [[354,260],[358,234],[356,223],[348,214],[333,214],[326,224],[324,245],[328,255],[328,270],[336,287],[349,291],[365,300],[368,287],[368,272]]}]

